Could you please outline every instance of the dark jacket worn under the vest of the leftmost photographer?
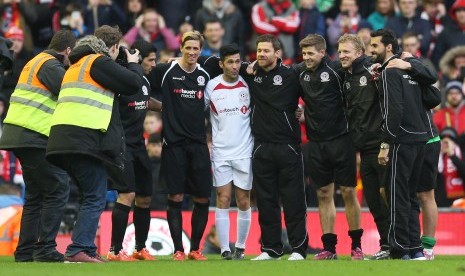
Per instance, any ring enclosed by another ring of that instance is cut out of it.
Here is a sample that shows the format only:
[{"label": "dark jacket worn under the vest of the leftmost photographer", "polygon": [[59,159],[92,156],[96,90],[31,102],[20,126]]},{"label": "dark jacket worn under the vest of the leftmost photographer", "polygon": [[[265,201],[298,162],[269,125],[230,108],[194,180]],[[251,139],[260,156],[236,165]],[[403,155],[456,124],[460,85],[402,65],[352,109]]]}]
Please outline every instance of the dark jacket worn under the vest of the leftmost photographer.
[{"label": "dark jacket worn under the vest of the leftmost photographer", "polygon": [[[58,96],[60,93],[61,81],[65,75],[65,67],[63,65],[64,56],[56,53],[54,50],[46,50],[44,52],[54,56],[55,59],[46,61],[37,72],[37,77],[52,94]],[[3,135],[0,138],[0,148],[45,149],[47,147],[47,140],[47,136],[38,132],[17,125],[5,124]]]}]

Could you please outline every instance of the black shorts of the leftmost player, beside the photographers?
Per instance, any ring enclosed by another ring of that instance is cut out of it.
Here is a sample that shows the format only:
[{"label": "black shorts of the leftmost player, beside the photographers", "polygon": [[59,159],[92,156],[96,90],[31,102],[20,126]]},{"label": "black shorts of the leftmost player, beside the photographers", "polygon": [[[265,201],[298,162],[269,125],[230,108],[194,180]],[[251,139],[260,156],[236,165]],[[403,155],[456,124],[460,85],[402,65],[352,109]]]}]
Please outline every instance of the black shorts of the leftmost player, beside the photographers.
[{"label": "black shorts of the leftmost player, beside the photographers", "polygon": [[152,171],[147,150],[127,151],[123,171],[115,166],[107,166],[106,170],[109,190],[152,196]]}]

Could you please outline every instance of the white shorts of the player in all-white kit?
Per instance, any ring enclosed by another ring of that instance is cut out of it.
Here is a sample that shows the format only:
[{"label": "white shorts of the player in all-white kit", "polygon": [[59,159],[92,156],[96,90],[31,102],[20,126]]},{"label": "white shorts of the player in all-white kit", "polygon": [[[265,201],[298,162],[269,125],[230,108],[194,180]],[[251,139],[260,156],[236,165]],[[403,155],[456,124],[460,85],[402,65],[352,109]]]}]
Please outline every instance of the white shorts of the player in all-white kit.
[{"label": "white shorts of the player in all-white kit", "polygon": [[246,191],[252,189],[252,158],[212,161],[213,186],[233,185]]}]

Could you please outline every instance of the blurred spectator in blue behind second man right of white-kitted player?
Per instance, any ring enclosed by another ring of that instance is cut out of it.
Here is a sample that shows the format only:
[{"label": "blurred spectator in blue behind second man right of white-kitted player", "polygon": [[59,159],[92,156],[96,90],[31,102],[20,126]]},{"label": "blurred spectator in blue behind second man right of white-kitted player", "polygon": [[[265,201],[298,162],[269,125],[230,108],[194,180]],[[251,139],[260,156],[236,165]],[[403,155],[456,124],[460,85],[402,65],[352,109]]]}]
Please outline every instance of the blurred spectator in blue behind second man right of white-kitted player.
[{"label": "blurred spectator in blue behind second man right of white-kitted player", "polygon": [[316,33],[323,37],[326,36],[325,17],[318,11],[316,0],[300,0],[299,3],[300,26],[294,39],[296,57],[300,55],[299,41],[308,34]]}]

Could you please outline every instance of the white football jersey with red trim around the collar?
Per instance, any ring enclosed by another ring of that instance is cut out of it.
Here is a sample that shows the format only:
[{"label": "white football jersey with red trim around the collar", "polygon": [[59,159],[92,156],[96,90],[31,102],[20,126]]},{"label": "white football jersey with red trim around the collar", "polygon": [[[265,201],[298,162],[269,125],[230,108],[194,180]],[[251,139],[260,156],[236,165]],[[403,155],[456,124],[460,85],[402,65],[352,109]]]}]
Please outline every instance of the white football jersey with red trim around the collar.
[{"label": "white football jersey with red trim around the collar", "polygon": [[210,80],[205,88],[205,105],[212,123],[212,161],[252,156],[249,86],[242,77],[234,83],[223,75]]}]

